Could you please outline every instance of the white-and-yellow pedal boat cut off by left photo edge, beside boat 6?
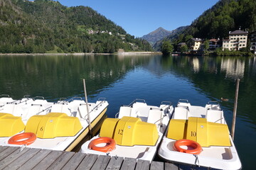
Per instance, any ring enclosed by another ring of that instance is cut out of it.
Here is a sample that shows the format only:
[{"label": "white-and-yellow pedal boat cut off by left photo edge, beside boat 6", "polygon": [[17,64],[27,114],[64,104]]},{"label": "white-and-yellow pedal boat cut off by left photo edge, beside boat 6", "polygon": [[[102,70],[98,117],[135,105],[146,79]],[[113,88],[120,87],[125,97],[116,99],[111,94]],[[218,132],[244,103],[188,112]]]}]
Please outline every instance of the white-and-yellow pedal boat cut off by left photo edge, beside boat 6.
[{"label": "white-and-yellow pedal boat cut off by left photo edge, beside boat 6", "polygon": [[24,96],[21,100],[6,99],[8,102],[0,110],[0,145],[4,145],[4,141],[9,137],[24,132],[31,116],[46,115],[53,105],[41,96],[35,98]]}]

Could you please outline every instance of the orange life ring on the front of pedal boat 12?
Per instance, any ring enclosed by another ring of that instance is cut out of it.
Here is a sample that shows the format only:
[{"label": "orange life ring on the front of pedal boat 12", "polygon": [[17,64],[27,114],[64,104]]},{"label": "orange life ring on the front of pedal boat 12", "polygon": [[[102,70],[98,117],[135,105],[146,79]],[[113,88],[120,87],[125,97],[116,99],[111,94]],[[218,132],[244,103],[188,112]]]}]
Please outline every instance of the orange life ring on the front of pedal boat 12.
[{"label": "orange life ring on the front of pedal boat 12", "polygon": [[[96,145],[103,144],[104,147],[97,147]],[[116,142],[110,137],[99,137],[95,140],[92,140],[88,146],[89,149],[100,151],[100,152],[110,152],[115,149]]]}]

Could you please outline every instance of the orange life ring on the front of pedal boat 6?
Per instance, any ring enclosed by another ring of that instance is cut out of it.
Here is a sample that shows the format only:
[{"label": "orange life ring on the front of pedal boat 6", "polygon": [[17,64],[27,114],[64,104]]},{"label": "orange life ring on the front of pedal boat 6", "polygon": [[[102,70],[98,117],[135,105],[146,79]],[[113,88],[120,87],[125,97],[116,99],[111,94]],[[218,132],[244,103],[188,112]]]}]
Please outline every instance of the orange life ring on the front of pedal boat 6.
[{"label": "orange life ring on the front of pedal boat 6", "polygon": [[18,135],[14,135],[8,140],[9,144],[13,145],[31,145],[36,140],[36,134],[33,132],[23,132]]}]

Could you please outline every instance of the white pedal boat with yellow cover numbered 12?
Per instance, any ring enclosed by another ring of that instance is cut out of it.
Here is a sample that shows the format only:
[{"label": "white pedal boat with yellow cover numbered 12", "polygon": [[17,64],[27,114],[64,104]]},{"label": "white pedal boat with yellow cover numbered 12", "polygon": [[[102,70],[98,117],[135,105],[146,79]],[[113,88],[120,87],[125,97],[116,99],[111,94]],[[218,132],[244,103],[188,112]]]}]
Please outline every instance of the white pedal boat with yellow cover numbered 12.
[{"label": "white pedal boat with yellow cover numbered 12", "polygon": [[[162,102],[158,107],[136,99],[128,106],[121,106],[115,118],[107,118],[102,123],[100,135],[85,142],[80,152],[151,162],[173,111],[171,102]],[[90,149],[92,143],[100,149]]]}]

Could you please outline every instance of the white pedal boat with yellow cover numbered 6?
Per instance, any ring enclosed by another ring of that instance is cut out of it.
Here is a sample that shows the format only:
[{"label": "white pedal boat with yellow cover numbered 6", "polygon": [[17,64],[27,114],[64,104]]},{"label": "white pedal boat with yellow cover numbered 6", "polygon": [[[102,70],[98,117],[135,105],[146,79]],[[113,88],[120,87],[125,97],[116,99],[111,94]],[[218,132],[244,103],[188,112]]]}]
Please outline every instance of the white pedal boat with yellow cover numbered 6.
[{"label": "white pedal boat with yellow cover numbered 6", "polygon": [[[25,134],[35,134],[36,139],[26,147],[61,151],[73,150],[80,141],[90,135],[87,106],[92,130],[96,128],[101,118],[105,118],[108,106],[105,98],[99,98],[96,103],[87,103],[87,105],[82,98],[58,101],[53,104],[50,113],[33,115],[28,119],[24,132]],[[8,143],[10,138],[6,139],[5,145],[21,146],[10,145]],[[28,139],[30,138],[32,140],[33,137],[28,137]]]}]

